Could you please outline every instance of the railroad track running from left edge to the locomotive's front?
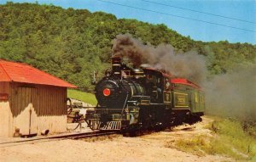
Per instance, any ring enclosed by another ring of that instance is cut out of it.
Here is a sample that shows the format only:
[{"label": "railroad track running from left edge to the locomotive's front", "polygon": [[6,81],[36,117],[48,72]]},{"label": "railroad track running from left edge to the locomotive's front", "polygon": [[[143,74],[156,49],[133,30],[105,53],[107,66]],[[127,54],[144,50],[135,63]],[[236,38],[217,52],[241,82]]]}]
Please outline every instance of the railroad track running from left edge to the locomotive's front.
[{"label": "railroad track running from left edge to the locomotive's front", "polygon": [[58,140],[64,140],[64,139],[77,140],[77,139],[88,138],[88,137],[109,136],[113,134],[117,134],[117,131],[91,131],[91,132],[84,132],[84,133],[52,136],[52,137],[38,137],[38,138],[25,139],[20,141],[0,142],[0,148],[12,147],[12,146],[23,145],[23,144],[33,144],[36,142],[50,142],[50,141],[58,141]]}]

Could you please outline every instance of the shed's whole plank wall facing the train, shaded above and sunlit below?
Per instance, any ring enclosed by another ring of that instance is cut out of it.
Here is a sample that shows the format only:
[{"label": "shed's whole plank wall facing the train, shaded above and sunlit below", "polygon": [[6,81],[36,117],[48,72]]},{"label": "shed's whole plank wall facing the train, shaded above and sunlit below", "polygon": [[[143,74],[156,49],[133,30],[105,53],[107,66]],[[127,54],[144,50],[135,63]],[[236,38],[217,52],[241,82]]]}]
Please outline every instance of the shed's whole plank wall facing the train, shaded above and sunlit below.
[{"label": "shed's whole plank wall facing the train, shaded above and sunlit below", "polygon": [[44,129],[49,129],[49,133],[67,131],[66,98],[65,87],[11,82],[9,113],[12,122],[9,123],[9,137],[13,136],[15,128],[19,128],[24,135],[40,134]]}]

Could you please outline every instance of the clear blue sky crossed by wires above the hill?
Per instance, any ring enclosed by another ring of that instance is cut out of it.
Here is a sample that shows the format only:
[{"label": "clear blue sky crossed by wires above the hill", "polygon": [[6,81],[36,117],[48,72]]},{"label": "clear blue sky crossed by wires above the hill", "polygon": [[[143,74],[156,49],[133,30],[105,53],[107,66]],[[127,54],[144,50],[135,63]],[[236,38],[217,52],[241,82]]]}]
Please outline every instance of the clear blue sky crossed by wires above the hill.
[{"label": "clear blue sky crossed by wires above the hill", "polygon": [[[0,0],[0,3],[6,3]],[[35,0],[12,0],[35,3]],[[103,11],[118,19],[165,24],[183,36],[203,42],[256,44],[256,0],[38,0],[62,8]],[[217,16],[218,15],[218,16]]]}]

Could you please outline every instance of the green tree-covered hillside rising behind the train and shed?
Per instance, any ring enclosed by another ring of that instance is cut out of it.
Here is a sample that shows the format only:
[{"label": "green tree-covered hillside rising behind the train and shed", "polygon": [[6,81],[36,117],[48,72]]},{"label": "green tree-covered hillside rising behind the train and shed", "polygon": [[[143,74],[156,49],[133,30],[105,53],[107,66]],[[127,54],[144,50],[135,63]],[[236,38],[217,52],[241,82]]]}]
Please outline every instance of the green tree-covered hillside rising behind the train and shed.
[{"label": "green tree-covered hillside rising behind the train and shed", "polygon": [[109,67],[112,41],[130,33],[145,43],[169,43],[177,52],[195,50],[207,56],[209,75],[253,64],[256,46],[248,43],[196,42],[166,25],[118,20],[113,14],[63,9],[37,3],[0,5],[0,58],[32,64],[92,91],[93,70]]}]

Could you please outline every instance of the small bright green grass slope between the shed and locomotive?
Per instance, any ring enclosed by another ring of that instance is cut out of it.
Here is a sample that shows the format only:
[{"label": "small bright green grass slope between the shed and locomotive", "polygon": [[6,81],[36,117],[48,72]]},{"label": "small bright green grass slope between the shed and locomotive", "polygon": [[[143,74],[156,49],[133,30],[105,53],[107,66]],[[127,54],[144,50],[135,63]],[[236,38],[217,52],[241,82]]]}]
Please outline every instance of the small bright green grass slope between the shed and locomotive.
[{"label": "small bright green grass slope between the shed and locomotive", "polygon": [[78,90],[68,89],[67,90],[67,98],[73,98],[83,101],[84,103],[90,103],[92,105],[96,105],[97,101],[95,95],[89,92],[81,92]]}]

